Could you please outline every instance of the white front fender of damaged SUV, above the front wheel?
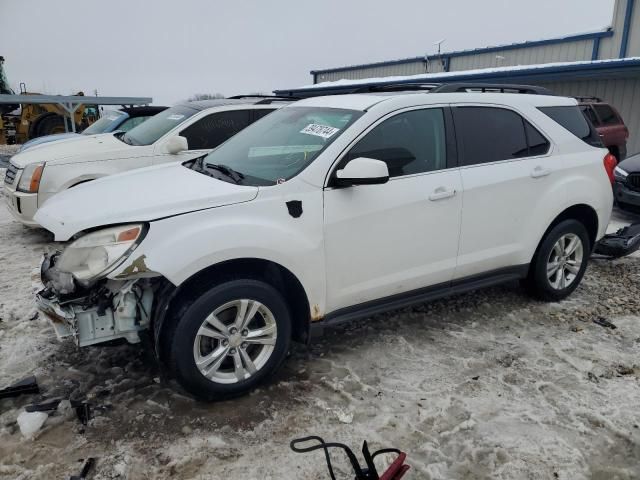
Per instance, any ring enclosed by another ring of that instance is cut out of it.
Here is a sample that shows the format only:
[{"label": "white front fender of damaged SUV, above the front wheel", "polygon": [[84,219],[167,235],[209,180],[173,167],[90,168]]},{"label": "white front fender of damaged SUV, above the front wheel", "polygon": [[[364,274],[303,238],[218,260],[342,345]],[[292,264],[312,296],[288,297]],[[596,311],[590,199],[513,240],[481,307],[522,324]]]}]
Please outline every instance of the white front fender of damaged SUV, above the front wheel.
[{"label": "white front fender of damaged SUV, above the front wheel", "polygon": [[321,191],[297,195],[294,218],[282,198],[252,201],[152,222],[144,241],[109,274],[112,279],[162,276],[179,286],[213,265],[260,259],[289,270],[302,284],[314,312],[325,311]]}]

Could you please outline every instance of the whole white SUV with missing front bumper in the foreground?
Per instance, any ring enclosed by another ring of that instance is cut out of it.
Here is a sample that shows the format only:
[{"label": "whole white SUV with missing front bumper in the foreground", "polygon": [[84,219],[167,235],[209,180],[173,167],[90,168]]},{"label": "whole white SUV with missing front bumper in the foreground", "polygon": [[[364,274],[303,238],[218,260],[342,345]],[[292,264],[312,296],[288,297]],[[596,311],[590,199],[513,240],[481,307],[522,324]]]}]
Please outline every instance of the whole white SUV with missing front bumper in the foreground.
[{"label": "whole white SUV with missing front bumper in the foreground", "polygon": [[514,279],[569,295],[612,208],[592,138],[564,97],[302,100],[50,200],[36,220],[73,242],[37,302],[81,346],[150,330],[188,391],[242,394],[326,326]]}]

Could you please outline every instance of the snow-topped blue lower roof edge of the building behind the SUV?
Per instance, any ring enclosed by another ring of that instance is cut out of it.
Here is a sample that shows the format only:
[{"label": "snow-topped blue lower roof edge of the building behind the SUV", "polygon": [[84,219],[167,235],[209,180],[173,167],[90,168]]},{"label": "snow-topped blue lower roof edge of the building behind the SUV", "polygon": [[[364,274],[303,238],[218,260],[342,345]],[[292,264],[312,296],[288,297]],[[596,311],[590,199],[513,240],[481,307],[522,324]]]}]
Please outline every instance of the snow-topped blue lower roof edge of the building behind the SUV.
[{"label": "snow-topped blue lower roof edge of the building behind the SUV", "polygon": [[[368,83],[354,83],[342,85],[327,85],[326,87],[307,87],[294,88],[288,90],[275,90],[276,95],[296,95],[305,92],[314,95],[337,93],[340,91],[348,91],[353,88],[369,87],[374,85],[386,84],[411,84],[411,83],[453,83],[453,82],[495,82],[495,83],[518,83],[519,81],[543,81],[554,82],[558,80],[589,79],[598,78],[600,76],[609,76],[613,73],[626,73],[632,69],[638,70],[640,73],[640,59],[617,59],[611,61],[601,61],[598,63],[579,63],[577,65],[549,65],[546,67],[536,66],[533,68],[520,68],[516,70],[490,70],[487,72],[476,71],[475,73],[466,73],[464,71],[459,74],[430,74],[428,78],[424,75],[415,75],[404,80],[376,81]],[[635,72],[634,72],[635,73]],[[329,82],[330,83],[330,82]]]}]

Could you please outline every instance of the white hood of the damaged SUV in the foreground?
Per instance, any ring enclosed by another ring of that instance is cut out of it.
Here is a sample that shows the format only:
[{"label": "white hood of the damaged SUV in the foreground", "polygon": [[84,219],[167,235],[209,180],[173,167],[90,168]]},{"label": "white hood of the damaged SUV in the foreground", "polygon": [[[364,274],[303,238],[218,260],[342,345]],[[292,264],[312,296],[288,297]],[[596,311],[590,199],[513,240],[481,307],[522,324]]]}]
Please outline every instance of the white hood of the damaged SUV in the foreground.
[{"label": "white hood of the damaged SUV in the foreground", "polygon": [[64,241],[90,228],[148,222],[205,208],[248,202],[258,187],[216,180],[169,163],[111,175],[49,199],[34,220]]}]

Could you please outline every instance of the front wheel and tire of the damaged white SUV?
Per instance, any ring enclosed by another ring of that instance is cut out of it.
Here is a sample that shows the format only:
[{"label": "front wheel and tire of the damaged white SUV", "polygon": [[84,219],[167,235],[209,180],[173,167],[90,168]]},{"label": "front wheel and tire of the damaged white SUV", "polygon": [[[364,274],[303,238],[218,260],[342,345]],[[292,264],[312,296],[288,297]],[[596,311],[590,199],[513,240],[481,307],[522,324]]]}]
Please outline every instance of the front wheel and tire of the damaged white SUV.
[{"label": "front wheel and tire of the damaged white SUV", "polygon": [[[162,341],[169,346],[172,374],[200,399],[223,400],[249,392],[278,370],[289,351],[287,304],[280,292],[260,280],[226,281],[177,311]],[[241,311],[246,314],[239,316]],[[247,323],[234,324],[238,317]]]}]

